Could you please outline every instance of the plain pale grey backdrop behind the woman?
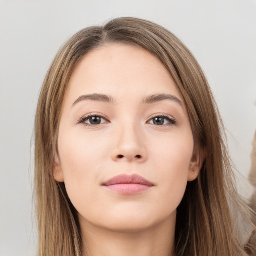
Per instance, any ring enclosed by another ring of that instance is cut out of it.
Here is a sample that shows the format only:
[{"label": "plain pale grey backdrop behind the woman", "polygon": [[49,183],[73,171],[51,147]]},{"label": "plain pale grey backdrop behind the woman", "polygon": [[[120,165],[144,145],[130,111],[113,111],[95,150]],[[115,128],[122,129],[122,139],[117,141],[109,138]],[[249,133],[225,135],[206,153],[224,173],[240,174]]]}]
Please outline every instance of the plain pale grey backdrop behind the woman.
[{"label": "plain pale grey backdrop behind the woman", "polygon": [[226,125],[241,173],[238,189],[250,195],[245,178],[256,128],[256,1],[0,0],[0,256],[36,254],[32,134],[51,60],[81,28],[118,16],[159,23],[193,52]]}]

